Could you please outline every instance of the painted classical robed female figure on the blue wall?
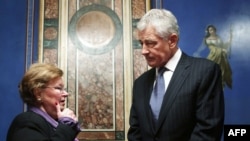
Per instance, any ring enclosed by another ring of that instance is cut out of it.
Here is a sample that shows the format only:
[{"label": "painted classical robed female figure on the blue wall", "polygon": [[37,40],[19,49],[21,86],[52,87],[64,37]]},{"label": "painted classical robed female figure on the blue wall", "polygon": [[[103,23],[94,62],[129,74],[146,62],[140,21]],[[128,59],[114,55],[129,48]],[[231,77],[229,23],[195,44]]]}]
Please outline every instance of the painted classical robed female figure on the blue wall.
[{"label": "painted classical robed female figure on the blue wall", "polygon": [[216,62],[220,65],[222,73],[222,84],[224,87],[232,89],[232,69],[229,63],[231,44],[233,39],[232,26],[228,29],[228,35],[223,35],[227,39],[222,39],[217,34],[215,25],[209,24],[205,29],[205,36],[203,37],[202,44],[194,52],[194,56],[201,57],[201,52],[207,47],[209,49],[207,59]]}]

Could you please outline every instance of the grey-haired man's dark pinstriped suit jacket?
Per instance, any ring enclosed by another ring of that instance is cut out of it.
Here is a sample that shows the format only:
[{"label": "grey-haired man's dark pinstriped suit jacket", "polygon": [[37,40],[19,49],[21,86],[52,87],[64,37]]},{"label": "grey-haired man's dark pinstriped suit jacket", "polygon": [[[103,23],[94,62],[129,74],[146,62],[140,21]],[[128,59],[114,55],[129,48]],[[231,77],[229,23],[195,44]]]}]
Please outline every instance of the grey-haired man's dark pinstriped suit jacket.
[{"label": "grey-haired man's dark pinstriped suit jacket", "polygon": [[207,59],[182,53],[165,93],[157,125],[150,97],[155,68],[134,82],[128,140],[219,141],[224,123],[221,71]]}]

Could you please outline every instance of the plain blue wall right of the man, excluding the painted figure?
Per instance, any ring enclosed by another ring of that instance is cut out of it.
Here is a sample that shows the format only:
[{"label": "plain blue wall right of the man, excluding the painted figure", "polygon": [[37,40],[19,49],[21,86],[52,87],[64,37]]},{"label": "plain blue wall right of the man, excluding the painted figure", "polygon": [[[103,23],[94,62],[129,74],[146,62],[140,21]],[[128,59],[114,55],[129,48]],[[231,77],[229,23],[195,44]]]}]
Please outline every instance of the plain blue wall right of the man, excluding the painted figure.
[{"label": "plain blue wall right of the man, excluding the painted figure", "polygon": [[[162,7],[177,17],[181,37],[179,46],[192,55],[201,45],[208,24],[217,27],[222,38],[233,30],[229,62],[233,89],[225,88],[225,124],[250,124],[250,1],[248,0],[164,0]],[[202,57],[206,57],[204,51]]]}]

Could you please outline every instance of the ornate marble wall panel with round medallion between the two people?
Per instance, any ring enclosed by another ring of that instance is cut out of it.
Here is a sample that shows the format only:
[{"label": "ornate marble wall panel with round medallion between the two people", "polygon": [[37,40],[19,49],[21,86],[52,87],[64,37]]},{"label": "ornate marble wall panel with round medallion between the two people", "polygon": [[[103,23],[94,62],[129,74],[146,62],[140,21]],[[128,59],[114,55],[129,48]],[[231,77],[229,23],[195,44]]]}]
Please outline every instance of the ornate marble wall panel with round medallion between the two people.
[{"label": "ornate marble wall panel with round medallion between the two people", "polygon": [[126,140],[133,80],[147,70],[133,27],[146,0],[40,0],[39,61],[65,72],[80,140]]}]

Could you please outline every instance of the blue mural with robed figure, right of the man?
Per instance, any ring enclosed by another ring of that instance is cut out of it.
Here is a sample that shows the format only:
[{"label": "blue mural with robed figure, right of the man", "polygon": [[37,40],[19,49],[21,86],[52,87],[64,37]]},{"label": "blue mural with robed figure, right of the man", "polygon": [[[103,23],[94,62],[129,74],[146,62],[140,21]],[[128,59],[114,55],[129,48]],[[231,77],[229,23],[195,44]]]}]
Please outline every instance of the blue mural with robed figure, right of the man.
[{"label": "blue mural with robed figure, right of the man", "polygon": [[250,124],[250,1],[161,1],[180,25],[179,47],[220,64],[225,124]]}]

